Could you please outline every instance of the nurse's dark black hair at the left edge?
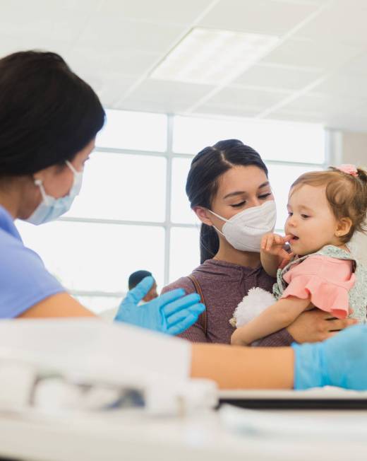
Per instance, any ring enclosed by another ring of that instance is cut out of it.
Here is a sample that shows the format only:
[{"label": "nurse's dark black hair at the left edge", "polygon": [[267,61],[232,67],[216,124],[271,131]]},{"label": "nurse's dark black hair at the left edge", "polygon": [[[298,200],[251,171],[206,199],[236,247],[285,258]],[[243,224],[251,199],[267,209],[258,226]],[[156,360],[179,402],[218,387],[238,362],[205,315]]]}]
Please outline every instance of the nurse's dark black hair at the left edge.
[{"label": "nurse's dark black hair at the left edge", "polygon": [[104,124],[96,93],[59,54],[0,59],[0,178],[64,165]]}]

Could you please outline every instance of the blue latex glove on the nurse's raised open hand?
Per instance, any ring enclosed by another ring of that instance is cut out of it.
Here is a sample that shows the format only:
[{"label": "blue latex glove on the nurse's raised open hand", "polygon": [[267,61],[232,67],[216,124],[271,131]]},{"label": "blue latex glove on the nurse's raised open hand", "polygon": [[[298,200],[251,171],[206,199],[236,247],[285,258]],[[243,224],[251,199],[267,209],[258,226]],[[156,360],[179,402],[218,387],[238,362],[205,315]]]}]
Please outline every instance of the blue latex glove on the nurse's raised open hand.
[{"label": "blue latex glove on the nurse's raised open hand", "polygon": [[121,301],[114,320],[157,332],[179,334],[191,327],[205,310],[205,305],[200,304],[200,296],[197,293],[185,296],[185,291],[181,288],[164,293],[149,303],[138,305],[150,291],[153,283],[154,279],[151,276],[145,277],[129,291],[126,298]]}]

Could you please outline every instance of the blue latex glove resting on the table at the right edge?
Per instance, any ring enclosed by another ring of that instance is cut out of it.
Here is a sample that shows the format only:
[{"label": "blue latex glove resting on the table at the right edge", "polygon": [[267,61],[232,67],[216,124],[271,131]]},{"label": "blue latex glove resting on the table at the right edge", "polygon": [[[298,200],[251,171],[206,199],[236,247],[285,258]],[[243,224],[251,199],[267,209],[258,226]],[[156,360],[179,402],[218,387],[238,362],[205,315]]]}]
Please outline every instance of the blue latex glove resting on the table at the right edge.
[{"label": "blue latex glove resting on the table at the right edge", "polygon": [[355,325],[324,342],[292,344],[294,389],[326,385],[367,390],[367,325]]}]

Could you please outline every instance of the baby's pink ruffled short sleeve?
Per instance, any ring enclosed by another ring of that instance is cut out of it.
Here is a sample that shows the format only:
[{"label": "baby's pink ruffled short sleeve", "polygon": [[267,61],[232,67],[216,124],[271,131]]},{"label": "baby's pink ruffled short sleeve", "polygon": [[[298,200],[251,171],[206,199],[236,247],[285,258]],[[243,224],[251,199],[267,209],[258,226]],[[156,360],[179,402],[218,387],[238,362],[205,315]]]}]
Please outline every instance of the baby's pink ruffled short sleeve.
[{"label": "baby's pink ruffled short sleeve", "polygon": [[306,258],[284,274],[289,284],[282,298],[311,298],[315,307],[345,318],[349,313],[349,290],[354,286],[352,261],[323,255]]}]

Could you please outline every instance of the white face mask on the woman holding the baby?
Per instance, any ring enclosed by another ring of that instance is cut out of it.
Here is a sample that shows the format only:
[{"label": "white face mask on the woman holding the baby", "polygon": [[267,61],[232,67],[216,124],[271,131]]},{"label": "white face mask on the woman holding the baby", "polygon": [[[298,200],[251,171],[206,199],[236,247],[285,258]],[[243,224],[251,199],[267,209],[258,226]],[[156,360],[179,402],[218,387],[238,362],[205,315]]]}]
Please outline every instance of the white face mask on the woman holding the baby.
[{"label": "white face mask on the woman holding the baby", "polygon": [[[210,210],[209,210],[210,211]],[[230,219],[223,218],[214,211],[210,213],[225,221],[222,232],[228,243],[236,250],[260,252],[263,235],[272,232],[277,222],[277,209],[274,200],[269,200],[260,206],[252,206]]]}]

